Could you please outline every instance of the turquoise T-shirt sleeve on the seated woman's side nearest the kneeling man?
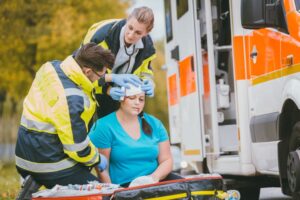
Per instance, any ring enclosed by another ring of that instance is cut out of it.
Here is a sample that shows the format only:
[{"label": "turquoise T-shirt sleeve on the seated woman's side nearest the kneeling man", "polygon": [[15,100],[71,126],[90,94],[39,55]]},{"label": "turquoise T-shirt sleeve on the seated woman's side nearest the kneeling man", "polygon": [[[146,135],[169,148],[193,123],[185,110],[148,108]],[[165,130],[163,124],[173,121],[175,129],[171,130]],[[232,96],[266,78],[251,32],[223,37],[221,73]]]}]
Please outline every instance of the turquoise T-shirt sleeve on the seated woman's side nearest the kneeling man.
[{"label": "turquoise T-shirt sleeve on the seated woman's side nearest the kneeling man", "polygon": [[107,125],[102,122],[102,119],[99,119],[94,123],[89,132],[89,137],[97,148],[111,148],[112,135],[110,134]]}]

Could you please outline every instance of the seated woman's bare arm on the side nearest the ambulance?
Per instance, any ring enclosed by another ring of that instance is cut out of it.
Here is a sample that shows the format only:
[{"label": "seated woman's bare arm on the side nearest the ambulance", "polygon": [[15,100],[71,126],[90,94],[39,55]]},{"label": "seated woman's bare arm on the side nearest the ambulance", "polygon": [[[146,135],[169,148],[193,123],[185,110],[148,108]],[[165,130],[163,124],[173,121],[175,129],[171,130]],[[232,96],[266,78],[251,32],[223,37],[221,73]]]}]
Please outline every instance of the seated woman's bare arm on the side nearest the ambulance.
[{"label": "seated woman's bare arm on the side nearest the ambulance", "polygon": [[158,163],[157,169],[151,174],[155,181],[164,179],[173,168],[173,158],[170,150],[170,142],[168,140],[159,143]]}]

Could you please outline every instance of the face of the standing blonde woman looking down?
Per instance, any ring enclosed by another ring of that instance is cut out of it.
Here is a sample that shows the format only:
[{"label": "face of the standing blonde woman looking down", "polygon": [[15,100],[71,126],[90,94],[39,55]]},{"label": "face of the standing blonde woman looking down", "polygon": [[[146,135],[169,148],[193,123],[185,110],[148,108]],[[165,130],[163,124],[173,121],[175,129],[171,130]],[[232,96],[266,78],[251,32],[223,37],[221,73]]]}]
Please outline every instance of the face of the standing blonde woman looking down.
[{"label": "face of the standing blonde woman looking down", "polygon": [[147,25],[139,23],[134,17],[127,20],[125,26],[125,43],[128,45],[135,44],[139,39],[146,36]]}]

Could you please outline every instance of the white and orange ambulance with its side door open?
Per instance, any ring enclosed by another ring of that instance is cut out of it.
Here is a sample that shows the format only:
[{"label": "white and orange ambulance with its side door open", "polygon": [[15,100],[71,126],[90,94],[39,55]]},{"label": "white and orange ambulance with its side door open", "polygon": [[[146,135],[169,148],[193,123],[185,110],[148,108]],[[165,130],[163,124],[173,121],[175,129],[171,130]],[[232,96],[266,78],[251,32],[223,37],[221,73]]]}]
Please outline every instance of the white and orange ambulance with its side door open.
[{"label": "white and orange ambulance with its side door open", "polygon": [[[170,140],[197,173],[300,191],[300,0],[164,0]],[[242,194],[243,197],[243,194]]]}]

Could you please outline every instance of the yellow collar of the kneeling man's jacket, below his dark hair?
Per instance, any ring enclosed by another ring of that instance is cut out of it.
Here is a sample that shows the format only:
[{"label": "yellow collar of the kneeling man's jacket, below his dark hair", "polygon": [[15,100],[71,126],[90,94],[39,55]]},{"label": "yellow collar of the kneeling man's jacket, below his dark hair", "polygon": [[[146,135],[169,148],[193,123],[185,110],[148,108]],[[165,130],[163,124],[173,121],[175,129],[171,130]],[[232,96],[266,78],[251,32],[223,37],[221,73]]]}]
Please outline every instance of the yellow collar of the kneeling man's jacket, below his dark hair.
[{"label": "yellow collar of the kneeling man's jacket, below his dark hair", "polygon": [[61,69],[66,76],[76,83],[87,93],[91,93],[94,86],[92,82],[83,74],[81,68],[72,56],[68,56],[62,63]]}]

